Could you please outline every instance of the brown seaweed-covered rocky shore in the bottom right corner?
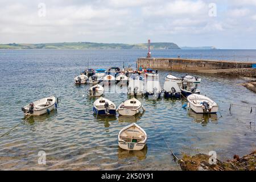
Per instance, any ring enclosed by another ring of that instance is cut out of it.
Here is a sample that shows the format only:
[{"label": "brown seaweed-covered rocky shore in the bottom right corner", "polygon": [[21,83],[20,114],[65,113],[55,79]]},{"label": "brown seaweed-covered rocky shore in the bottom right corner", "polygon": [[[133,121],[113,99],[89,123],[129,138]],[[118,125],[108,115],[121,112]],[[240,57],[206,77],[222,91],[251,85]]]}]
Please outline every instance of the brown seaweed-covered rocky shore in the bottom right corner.
[{"label": "brown seaweed-covered rocky shore in the bottom right corner", "polygon": [[194,156],[184,155],[179,164],[184,171],[256,171],[256,151],[240,158],[234,155],[233,160],[216,164],[209,164],[209,155],[197,154]]}]

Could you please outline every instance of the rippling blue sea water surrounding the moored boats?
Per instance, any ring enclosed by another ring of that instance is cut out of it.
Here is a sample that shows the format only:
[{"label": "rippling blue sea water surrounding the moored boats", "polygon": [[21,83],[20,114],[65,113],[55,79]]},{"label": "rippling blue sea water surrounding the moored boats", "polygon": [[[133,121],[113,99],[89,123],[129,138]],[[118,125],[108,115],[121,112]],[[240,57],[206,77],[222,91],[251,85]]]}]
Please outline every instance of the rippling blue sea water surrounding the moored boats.
[{"label": "rippling blue sea water surrounding the moored boats", "polygon": [[[175,54],[171,50],[155,53],[159,57]],[[201,94],[220,105],[220,112],[210,117],[183,109],[184,100],[139,98],[146,111],[134,118],[96,118],[95,98],[86,94],[89,85],[73,84],[75,75],[88,61],[92,68],[122,67],[123,61],[135,67],[137,57],[144,55],[145,51],[134,50],[1,50],[0,135],[16,127],[0,138],[0,169],[179,170],[170,150],[179,158],[214,150],[219,159],[230,159],[256,149],[255,110],[250,113],[249,107],[232,106],[229,111],[230,104],[256,106],[255,93],[239,85],[243,78],[196,75],[202,78]],[[159,72],[163,86],[168,71]],[[50,95],[60,98],[57,111],[23,120],[22,106]],[[117,106],[129,98],[126,86],[112,86],[104,97]],[[142,151],[118,147],[119,130],[131,122],[148,135]],[[38,164],[39,151],[46,152],[46,165]]]}]

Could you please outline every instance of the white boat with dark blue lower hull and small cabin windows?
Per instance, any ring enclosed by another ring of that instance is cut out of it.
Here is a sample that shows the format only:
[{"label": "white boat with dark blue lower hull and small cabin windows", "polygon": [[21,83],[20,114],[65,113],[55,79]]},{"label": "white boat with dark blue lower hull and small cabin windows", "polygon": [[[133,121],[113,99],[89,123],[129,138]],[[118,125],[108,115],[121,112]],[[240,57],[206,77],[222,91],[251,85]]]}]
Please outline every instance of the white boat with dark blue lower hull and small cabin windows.
[{"label": "white boat with dark blue lower hull and small cabin windows", "polygon": [[103,97],[98,98],[93,103],[93,112],[96,115],[115,115],[115,104]]}]

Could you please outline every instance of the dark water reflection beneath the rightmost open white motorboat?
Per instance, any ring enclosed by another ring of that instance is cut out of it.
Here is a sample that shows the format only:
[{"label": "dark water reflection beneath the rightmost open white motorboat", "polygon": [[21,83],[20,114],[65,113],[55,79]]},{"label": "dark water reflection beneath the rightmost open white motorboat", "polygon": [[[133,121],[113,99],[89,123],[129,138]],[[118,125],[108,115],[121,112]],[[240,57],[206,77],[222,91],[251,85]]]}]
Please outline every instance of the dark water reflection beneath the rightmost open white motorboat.
[{"label": "dark water reflection beneath the rightmost open white motorboat", "polygon": [[193,118],[193,122],[202,123],[203,126],[208,122],[218,123],[217,114],[197,114],[192,109],[188,109],[188,116]]}]

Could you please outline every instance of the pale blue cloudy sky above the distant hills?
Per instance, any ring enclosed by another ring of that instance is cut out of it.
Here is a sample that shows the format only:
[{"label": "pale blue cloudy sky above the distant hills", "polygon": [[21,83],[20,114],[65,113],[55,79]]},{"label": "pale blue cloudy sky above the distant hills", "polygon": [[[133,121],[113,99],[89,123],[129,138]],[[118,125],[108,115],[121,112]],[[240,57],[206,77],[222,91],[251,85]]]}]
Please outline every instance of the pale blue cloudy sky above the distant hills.
[{"label": "pale blue cloudy sky above the distant hills", "polygon": [[0,0],[0,43],[144,43],[148,38],[179,46],[256,49],[256,0]]}]

